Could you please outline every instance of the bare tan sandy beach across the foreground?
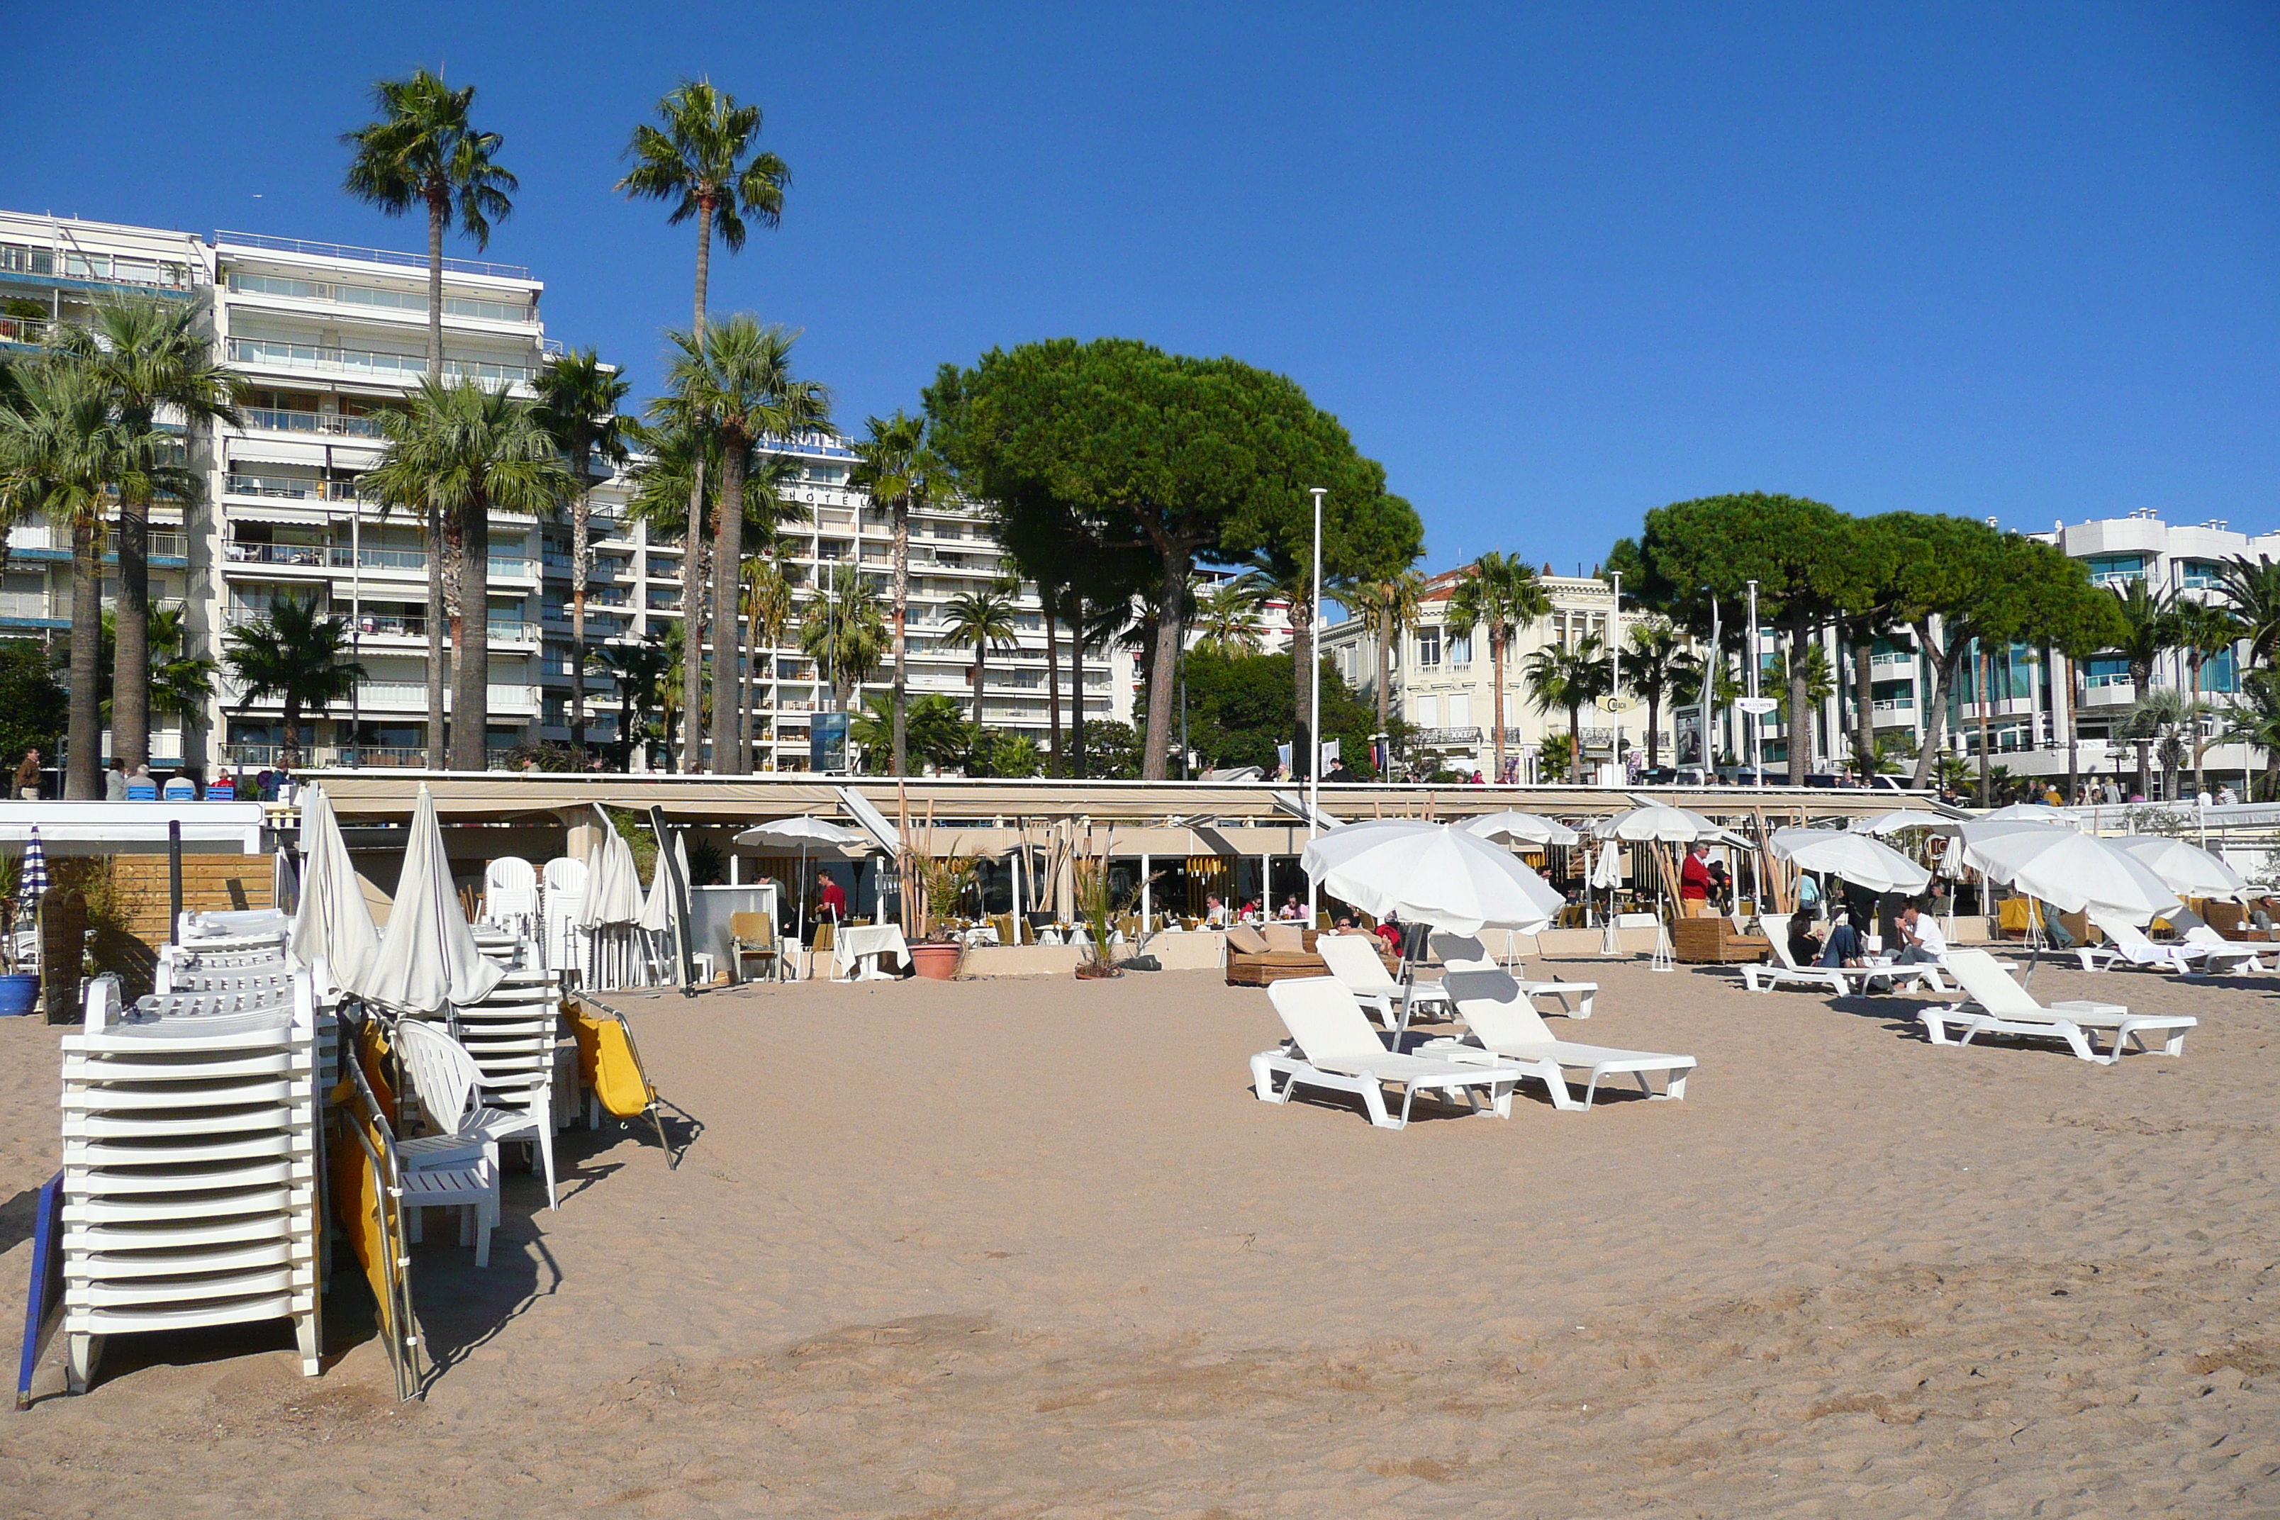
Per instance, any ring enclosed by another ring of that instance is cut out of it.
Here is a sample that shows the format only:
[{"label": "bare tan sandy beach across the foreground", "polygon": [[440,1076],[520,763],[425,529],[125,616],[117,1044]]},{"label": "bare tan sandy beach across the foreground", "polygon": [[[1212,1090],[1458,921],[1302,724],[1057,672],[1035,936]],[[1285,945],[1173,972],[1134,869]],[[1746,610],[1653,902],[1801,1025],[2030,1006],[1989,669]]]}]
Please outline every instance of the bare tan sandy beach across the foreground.
[{"label": "bare tan sandy beach across the foreground", "polygon": [[[2280,980],[2045,966],[2202,1019],[2100,1069],[1553,969],[1687,1101],[1263,1105],[1279,1023],[1213,973],[629,996],[686,1158],[572,1130],[488,1272],[431,1228],[426,1404],[340,1308],[319,1381],[283,1329],[116,1340],[80,1399],[50,1349],[0,1511],[2280,1513]],[[11,1326],[55,1039],[0,1023]]]}]

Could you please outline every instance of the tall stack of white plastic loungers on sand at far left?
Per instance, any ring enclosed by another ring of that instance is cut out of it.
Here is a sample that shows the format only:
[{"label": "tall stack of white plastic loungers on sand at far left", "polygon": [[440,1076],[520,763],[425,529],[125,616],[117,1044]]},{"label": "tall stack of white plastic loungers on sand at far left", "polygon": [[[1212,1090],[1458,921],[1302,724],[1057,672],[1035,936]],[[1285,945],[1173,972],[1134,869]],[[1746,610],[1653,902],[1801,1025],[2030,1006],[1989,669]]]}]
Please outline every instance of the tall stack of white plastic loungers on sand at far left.
[{"label": "tall stack of white plastic loungers on sand at far left", "polygon": [[[180,969],[176,969],[180,971]],[[64,1037],[64,1335],[292,1319],[319,1372],[317,1007],[306,973],[121,1010]]]}]

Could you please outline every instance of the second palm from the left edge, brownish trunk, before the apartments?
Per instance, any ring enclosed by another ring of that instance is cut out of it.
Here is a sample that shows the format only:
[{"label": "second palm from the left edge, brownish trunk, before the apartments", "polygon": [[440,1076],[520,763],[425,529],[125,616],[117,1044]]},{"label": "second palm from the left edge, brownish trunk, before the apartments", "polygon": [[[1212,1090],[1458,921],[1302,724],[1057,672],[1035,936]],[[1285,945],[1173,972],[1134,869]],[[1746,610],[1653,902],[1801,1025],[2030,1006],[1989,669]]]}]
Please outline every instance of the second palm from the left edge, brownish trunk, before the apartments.
[{"label": "second palm from the left edge, brownish trunk, before the apartments", "polygon": [[[150,296],[103,301],[91,324],[62,330],[57,349],[87,367],[128,438],[155,435],[160,408],[187,426],[239,419],[239,381],[212,360],[194,310]],[[150,761],[150,492],[148,476],[128,474],[112,481],[119,490],[112,754],[135,770]]]}]

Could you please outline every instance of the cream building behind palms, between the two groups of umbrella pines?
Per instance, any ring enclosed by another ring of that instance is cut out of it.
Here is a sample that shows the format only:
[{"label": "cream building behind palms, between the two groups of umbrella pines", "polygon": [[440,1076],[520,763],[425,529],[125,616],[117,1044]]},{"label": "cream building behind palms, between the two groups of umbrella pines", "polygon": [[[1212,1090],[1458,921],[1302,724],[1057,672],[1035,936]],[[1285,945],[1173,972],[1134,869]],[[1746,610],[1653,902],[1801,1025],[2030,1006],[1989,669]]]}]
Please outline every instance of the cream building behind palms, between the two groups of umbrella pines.
[{"label": "cream building behind palms, between the two groups of umbrella pines", "polygon": [[[1550,595],[1553,611],[1518,629],[1505,649],[1505,688],[1496,690],[1496,665],[1489,656],[1487,629],[1459,627],[1448,615],[1448,602],[1457,590],[1461,570],[1432,577],[1420,597],[1416,627],[1404,631],[1391,652],[1391,711],[1414,725],[1414,747],[1430,750],[1452,770],[1496,768],[1496,734],[1491,725],[1505,729],[1505,768],[1521,784],[1541,777],[1539,757],[1550,734],[1566,736],[1566,709],[1539,711],[1528,693],[1528,656],[1544,647],[1573,649],[1585,638],[1596,636],[1605,647],[1610,624],[1614,634],[1628,638],[1632,615],[1617,615],[1614,586],[1598,577],[1569,574],[1539,577]],[[1322,634],[1322,652],[1336,661],[1338,675],[1366,702],[1377,700],[1377,624],[1370,618],[1345,618]],[[1655,750],[1664,766],[1674,763],[1671,750],[1674,713],[1660,713],[1660,736]],[[1619,745],[1621,736],[1621,745]],[[1623,713],[1607,713],[1598,706],[1582,709],[1582,763],[1598,766],[1644,752],[1646,709],[1635,706]],[[1571,777],[1578,773],[1571,773]],[[1493,779],[1493,777],[1491,777]]]}]

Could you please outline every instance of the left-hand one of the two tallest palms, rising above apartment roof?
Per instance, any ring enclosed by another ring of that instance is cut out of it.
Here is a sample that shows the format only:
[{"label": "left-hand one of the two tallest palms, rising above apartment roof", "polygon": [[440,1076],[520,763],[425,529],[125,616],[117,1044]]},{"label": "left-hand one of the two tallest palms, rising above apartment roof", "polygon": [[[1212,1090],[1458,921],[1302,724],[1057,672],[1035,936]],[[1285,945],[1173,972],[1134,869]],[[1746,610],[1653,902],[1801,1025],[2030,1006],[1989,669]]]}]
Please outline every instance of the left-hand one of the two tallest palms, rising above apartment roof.
[{"label": "left-hand one of the two tallest palms, rising above apartment roof", "polygon": [[[342,132],[340,141],[356,150],[349,160],[344,189],[376,205],[388,216],[404,216],[415,205],[429,219],[429,362],[431,381],[445,378],[442,356],[442,239],[456,223],[474,239],[477,248],[490,246],[490,223],[506,221],[520,189],[515,175],[492,162],[506,139],[497,132],[479,132],[467,119],[474,105],[474,84],[451,89],[426,68],[415,68],[408,80],[378,80],[372,87],[372,107],[381,114],[353,132]],[[442,622],[445,622],[445,563],[442,563],[442,508],[433,501],[404,501],[420,508],[429,540],[429,768],[442,770]],[[461,590],[467,586],[467,565],[454,565]],[[474,567],[474,586],[488,581],[490,565]],[[481,590],[477,590],[481,595]]]}]

